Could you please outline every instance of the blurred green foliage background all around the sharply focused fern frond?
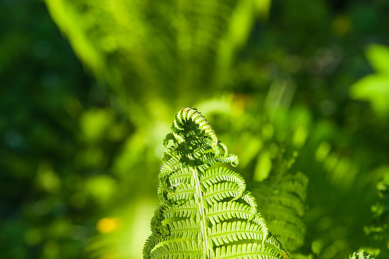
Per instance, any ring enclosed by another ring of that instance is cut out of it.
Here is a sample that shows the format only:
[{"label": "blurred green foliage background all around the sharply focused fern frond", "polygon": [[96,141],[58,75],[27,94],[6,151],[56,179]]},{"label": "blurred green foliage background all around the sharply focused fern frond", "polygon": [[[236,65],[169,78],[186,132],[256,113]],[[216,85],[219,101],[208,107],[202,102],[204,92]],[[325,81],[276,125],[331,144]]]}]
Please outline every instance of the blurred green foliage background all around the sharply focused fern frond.
[{"label": "blurred green foliage background all around the sharply focused fern frond", "polygon": [[291,258],[389,257],[387,1],[45,3],[0,1],[1,258],[140,258],[184,106],[270,199],[306,175]]}]

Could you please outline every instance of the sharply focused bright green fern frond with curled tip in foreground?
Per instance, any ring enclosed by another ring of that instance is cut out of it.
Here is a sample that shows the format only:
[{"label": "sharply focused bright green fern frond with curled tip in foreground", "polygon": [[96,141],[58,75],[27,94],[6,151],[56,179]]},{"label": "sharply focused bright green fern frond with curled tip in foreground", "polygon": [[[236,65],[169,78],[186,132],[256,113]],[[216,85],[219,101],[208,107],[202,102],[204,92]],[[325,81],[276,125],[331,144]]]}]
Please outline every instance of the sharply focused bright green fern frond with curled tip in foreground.
[{"label": "sharply focused bright green fern frond with curled tip in foreground", "polygon": [[183,108],[163,139],[159,205],[144,259],[276,259],[288,257],[268,231],[237,166],[210,123],[195,108]]}]

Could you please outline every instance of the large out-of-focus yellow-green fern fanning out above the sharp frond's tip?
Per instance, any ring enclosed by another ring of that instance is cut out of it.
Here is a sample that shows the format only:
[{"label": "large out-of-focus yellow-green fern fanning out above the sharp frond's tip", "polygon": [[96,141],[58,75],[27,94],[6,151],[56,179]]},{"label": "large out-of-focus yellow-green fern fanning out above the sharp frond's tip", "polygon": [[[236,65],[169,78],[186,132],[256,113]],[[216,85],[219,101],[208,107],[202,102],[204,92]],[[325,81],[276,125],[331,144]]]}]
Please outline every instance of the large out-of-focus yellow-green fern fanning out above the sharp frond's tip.
[{"label": "large out-of-focus yellow-green fern fanning out above the sharp frond's tip", "polygon": [[255,0],[46,0],[46,5],[74,52],[113,87],[124,109],[147,115],[153,115],[144,105],[150,98],[182,105],[196,100],[187,93],[201,93],[200,98],[208,86],[220,85],[220,74],[230,69],[263,6]]}]

